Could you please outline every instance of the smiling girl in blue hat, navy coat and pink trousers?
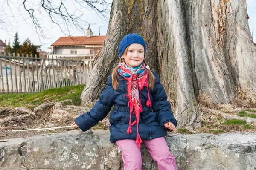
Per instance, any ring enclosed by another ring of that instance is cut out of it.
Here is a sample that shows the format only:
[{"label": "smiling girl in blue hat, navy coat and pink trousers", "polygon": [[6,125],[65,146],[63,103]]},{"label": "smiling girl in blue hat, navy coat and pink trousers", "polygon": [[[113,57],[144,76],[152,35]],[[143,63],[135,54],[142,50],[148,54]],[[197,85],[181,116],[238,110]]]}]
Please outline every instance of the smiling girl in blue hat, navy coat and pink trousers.
[{"label": "smiling girl in blue hat, navy coat and pink trousers", "polygon": [[159,170],[177,170],[163,136],[177,121],[160,79],[145,63],[146,44],[138,34],[126,35],[119,46],[120,63],[93,109],[72,125],[89,130],[110,113],[110,141],[122,151],[124,170],[141,170],[140,144],[148,148]]}]

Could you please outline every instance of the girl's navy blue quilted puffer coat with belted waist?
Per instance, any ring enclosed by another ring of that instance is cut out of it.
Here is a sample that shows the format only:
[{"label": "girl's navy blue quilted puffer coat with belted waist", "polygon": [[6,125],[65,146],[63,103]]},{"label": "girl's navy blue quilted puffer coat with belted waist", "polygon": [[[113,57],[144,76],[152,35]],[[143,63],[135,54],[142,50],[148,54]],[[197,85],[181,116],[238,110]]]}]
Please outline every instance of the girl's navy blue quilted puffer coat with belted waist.
[{"label": "girl's navy blue quilted puffer coat with belted waist", "polygon": [[[174,118],[171,105],[167,101],[167,95],[164,91],[158,75],[155,76],[154,89],[149,89],[150,100],[152,107],[147,107],[148,90],[144,87],[141,90],[141,105],[143,111],[140,112],[139,133],[141,139],[153,139],[167,135],[167,129],[164,124],[172,122],[177,126],[177,121]],[[137,124],[132,126],[132,133],[127,133],[130,120],[130,108],[128,107],[127,81],[119,75],[120,85],[117,90],[112,86],[112,75],[108,78],[108,85],[99,97],[94,107],[87,113],[80,115],[75,119],[76,124],[82,131],[89,130],[94,125],[102,121],[114,105],[114,109],[110,113],[110,141],[114,142],[122,139],[136,139]],[[136,120],[135,114],[131,116],[131,122]]]}]

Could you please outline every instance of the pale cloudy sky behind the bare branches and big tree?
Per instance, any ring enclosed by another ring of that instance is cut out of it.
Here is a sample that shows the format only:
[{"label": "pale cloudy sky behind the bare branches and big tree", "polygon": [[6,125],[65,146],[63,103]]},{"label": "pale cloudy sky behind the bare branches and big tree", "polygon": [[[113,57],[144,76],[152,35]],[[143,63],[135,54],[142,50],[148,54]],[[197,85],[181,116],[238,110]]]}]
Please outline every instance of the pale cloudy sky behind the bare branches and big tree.
[{"label": "pale cloudy sky behind the bare branches and big tree", "polygon": [[[93,32],[93,35],[99,35],[99,27],[103,26],[100,28],[100,34],[101,35],[106,35],[107,29],[108,29],[108,20],[109,20],[109,15],[110,15],[110,8],[111,4],[108,7],[109,12],[107,14],[107,18],[104,19],[103,17],[99,17],[100,15],[96,13],[95,11],[89,10],[84,8],[83,6],[76,6],[76,9],[74,7],[74,3],[72,3],[73,0],[66,0],[68,9],[72,12],[77,12],[81,9],[81,11],[85,11],[83,13],[83,16],[81,17],[82,21],[87,21],[90,24],[90,29]],[[250,31],[251,33],[253,32],[253,41],[256,42],[256,0],[246,0],[247,1],[247,13],[249,15],[249,26],[250,26]],[[31,42],[35,45],[42,45],[41,50],[50,52],[49,47],[51,46],[52,43],[54,43],[56,40],[58,40],[59,37],[67,36],[69,33],[67,30],[64,30],[62,32],[59,27],[53,23],[51,23],[51,20],[47,17],[46,14],[42,12],[41,15],[41,25],[44,26],[45,28],[45,34],[46,34],[46,39],[38,36],[38,34],[35,32],[35,29],[32,26],[32,22],[30,18],[25,18],[24,16],[28,16],[26,11],[23,9],[22,4],[20,4],[20,0],[11,0],[9,1],[9,6],[12,6],[12,8],[9,8],[7,6],[6,0],[1,0],[0,2],[0,8],[1,6],[3,7],[2,9],[5,9],[5,12],[7,16],[14,16],[15,19],[10,20],[11,22],[11,29],[8,29],[8,31],[5,31],[3,29],[0,29],[0,39],[4,42],[5,40],[8,41],[10,40],[11,44],[14,40],[14,35],[15,32],[18,32],[19,36],[19,41],[20,43],[23,43],[26,38],[29,38]],[[34,0],[35,2],[35,0]],[[112,2],[112,0],[108,0],[109,3]],[[18,5],[17,5],[18,4]],[[32,3],[31,3],[32,4]],[[30,5],[30,4],[29,4]],[[33,3],[31,6],[37,6],[38,4]],[[79,8],[80,7],[80,8]],[[81,14],[81,12],[78,14]],[[3,16],[3,13],[2,13]],[[10,18],[10,17],[9,17]],[[12,17],[13,18],[13,17]],[[1,14],[0,14],[0,19],[1,19]],[[85,30],[88,28],[88,26],[84,26]],[[66,35],[65,35],[66,33]],[[84,36],[86,33],[81,32],[76,29],[70,29],[70,35],[72,36]]]}]

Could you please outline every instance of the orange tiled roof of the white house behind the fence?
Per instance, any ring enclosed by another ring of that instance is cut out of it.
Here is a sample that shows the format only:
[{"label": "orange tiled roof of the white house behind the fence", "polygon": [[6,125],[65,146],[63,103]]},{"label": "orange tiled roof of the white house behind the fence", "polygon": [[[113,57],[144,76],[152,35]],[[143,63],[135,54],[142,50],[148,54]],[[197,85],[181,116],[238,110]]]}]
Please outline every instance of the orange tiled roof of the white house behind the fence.
[{"label": "orange tiled roof of the white house behind the fence", "polygon": [[78,37],[60,37],[51,46],[72,46],[72,45],[103,45],[106,35],[78,36]]}]

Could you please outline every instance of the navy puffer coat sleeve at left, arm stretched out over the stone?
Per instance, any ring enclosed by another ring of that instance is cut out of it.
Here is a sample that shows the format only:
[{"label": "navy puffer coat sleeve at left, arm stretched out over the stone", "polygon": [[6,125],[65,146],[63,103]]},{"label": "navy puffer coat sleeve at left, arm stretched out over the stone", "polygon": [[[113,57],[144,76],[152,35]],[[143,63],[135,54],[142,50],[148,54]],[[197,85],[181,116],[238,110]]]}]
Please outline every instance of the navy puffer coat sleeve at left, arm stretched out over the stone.
[{"label": "navy puffer coat sleeve at left, arm stretched out over the stone", "polygon": [[99,121],[102,121],[113,106],[113,86],[111,76],[112,75],[108,78],[108,85],[99,96],[99,101],[94,104],[89,112],[86,112],[75,119],[76,124],[83,132],[98,124]]}]

